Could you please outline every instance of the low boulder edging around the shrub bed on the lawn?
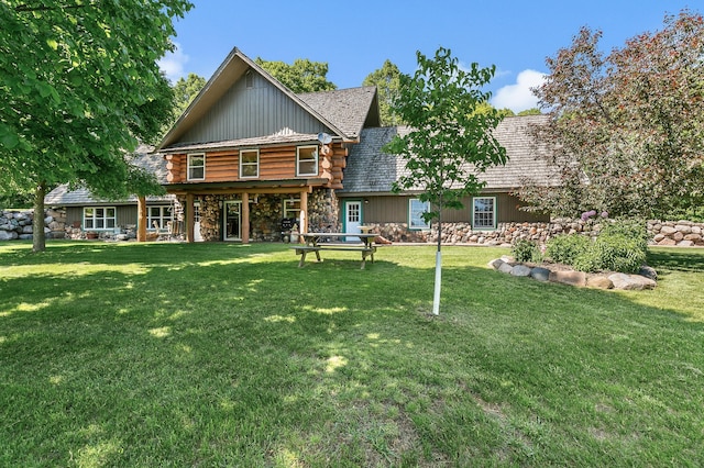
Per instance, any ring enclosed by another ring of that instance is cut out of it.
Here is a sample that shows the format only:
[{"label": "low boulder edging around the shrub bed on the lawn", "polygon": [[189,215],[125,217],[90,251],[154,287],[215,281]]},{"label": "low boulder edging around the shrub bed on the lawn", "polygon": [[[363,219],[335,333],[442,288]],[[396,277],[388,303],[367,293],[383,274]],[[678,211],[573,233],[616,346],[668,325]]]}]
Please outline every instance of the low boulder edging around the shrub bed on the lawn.
[{"label": "low boulder edging around the shrub bed on the lawn", "polygon": [[563,285],[598,288],[598,289],[622,289],[622,290],[644,290],[653,289],[657,286],[658,274],[648,266],[642,266],[637,275],[628,275],[615,271],[598,274],[586,274],[576,271],[560,264],[524,264],[516,261],[513,257],[503,256],[488,263],[488,266],[497,271],[517,276],[532,278],[538,281],[560,282]]}]

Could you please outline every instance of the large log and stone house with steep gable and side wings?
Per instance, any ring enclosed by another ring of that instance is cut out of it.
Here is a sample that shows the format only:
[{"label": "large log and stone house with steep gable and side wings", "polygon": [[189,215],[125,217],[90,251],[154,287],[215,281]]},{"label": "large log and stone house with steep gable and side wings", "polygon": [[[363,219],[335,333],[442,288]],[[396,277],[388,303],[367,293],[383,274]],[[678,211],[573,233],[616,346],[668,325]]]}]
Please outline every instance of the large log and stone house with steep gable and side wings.
[{"label": "large log and stone house with steep gable and side wings", "polygon": [[[519,210],[510,194],[524,176],[548,182],[527,132],[540,119],[504,120],[496,137],[509,161],[483,175],[484,192],[443,220],[474,231],[549,221]],[[393,193],[404,163],[382,152],[406,131],[380,126],[374,87],[296,94],[234,48],[156,148],[173,197],[162,205],[178,207],[174,222],[190,242],[277,241],[290,225],[350,233],[370,225],[392,241],[426,241],[420,188]],[[74,214],[82,210],[89,222],[91,204],[76,203]]]}]

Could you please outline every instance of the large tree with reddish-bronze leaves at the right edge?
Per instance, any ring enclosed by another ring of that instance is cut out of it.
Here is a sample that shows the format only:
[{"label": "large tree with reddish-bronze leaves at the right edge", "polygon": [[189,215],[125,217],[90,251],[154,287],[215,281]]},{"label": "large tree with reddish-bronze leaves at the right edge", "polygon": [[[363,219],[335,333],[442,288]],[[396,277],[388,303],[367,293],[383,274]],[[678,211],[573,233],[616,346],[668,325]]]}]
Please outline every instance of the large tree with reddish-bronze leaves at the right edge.
[{"label": "large tree with reddish-bronze leaves at the right edge", "polygon": [[558,215],[595,207],[664,218],[704,200],[704,20],[684,10],[604,55],[584,27],[537,88],[550,119],[535,135],[560,186],[526,180],[524,200]]}]

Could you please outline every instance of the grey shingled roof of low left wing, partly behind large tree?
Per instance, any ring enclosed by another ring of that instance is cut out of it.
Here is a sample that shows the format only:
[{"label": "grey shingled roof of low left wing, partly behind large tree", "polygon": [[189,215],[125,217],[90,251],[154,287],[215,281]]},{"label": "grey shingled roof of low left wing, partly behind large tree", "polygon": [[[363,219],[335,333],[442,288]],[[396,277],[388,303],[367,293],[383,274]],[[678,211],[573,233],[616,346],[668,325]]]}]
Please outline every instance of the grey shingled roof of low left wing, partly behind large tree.
[{"label": "grey shingled roof of low left wing, partly behind large tree", "polygon": [[[145,169],[147,172],[154,174],[156,180],[166,183],[166,160],[158,153],[152,153],[153,147],[140,145],[132,159],[132,165]],[[167,194],[162,197],[146,197],[147,202],[170,202],[174,196]],[[136,197],[130,196],[124,200],[105,200],[98,199],[90,193],[90,190],[79,187],[70,190],[67,183],[56,187],[44,197],[44,204],[47,207],[84,207],[88,204],[133,204],[136,203]]]}]

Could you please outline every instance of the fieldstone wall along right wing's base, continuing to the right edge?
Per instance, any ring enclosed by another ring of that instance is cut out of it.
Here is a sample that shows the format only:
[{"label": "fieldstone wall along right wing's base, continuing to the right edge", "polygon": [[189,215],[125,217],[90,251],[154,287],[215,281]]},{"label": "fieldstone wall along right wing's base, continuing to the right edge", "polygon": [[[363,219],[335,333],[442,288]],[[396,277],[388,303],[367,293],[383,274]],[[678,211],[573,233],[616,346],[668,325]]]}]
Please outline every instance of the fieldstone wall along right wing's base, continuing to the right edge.
[{"label": "fieldstone wall along right wing's base, continuing to the right edge", "polygon": [[[392,242],[437,243],[438,231],[408,231],[406,223],[371,223],[372,232]],[[690,221],[648,221],[648,233],[657,245],[704,246],[704,223]],[[518,239],[546,244],[560,234],[598,235],[601,224],[570,219],[556,219],[550,223],[499,223],[493,231],[474,231],[469,223],[443,223],[442,243],[509,245]]]}]

